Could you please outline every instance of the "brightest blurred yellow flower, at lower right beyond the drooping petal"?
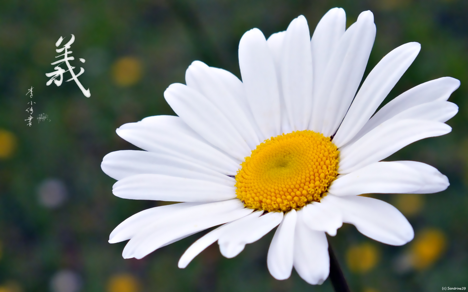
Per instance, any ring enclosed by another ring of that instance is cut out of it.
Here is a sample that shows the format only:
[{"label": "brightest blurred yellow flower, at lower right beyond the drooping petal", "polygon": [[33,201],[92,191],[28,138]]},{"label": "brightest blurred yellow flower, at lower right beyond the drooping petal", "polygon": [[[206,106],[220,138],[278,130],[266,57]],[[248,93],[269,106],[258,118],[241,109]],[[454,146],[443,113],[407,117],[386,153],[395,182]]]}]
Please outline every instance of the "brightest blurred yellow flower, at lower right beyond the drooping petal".
[{"label": "brightest blurred yellow flower, at lower right beyond the drooping petal", "polygon": [[425,269],[437,261],[446,249],[446,236],[436,228],[427,228],[416,235],[410,248],[412,266]]}]

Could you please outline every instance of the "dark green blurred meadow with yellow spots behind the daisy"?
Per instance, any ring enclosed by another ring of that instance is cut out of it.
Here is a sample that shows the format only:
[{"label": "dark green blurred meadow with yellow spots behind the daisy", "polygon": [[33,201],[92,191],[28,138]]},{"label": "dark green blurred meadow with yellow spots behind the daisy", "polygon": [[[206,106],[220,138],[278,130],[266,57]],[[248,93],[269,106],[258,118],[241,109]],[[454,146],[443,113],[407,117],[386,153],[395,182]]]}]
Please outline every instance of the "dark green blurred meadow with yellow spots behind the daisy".
[{"label": "dark green blurred meadow with yellow spots behind the daisy", "polygon": [[[332,7],[345,9],[348,26],[361,11],[374,13],[377,36],[366,74],[395,47],[421,43],[385,102],[434,78],[461,80],[449,99],[460,107],[448,121],[452,133],[388,158],[431,164],[448,176],[450,187],[428,195],[373,195],[407,216],[413,242],[388,246],[348,224],[330,238],[351,290],[466,287],[468,1],[1,0],[0,292],[333,291],[329,280],[311,286],[294,271],[285,281],[272,278],[266,269],[271,233],[233,259],[212,245],[183,270],[178,258],[200,234],[141,260],[124,260],[125,242],[109,244],[110,232],[158,202],[113,196],[115,180],[100,168],[107,153],[137,149],[117,136],[120,125],[174,114],[163,92],[184,83],[192,61],[239,76],[237,46],[245,31],[260,28],[268,37],[303,14],[312,33]],[[71,64],[84,67],[79,80],[90,98],[73,81],[45,85],[59,55],[55,42],[70,34],[76,37]],[[26,95],[31,86],[32,99]],[[30,100],[36,103],[29,127]],[[38,123],[42,113],[49,121]]]}]

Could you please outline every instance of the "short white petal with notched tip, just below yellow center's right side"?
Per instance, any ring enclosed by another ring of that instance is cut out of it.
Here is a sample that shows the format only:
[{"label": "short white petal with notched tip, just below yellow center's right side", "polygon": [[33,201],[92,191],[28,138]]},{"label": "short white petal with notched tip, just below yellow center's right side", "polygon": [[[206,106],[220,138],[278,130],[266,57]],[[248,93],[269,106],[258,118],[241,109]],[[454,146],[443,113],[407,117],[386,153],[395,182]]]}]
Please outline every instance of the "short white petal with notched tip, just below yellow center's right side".
[{"label": "short white petal with notched tip, just below yellow center's right side", "polygon": [[333,205],[334,196],[325,196],[319,202],[313,202],[302,208],[304,222],[312,230],[325,231],[331,236],[343,225],[340,212]]}]

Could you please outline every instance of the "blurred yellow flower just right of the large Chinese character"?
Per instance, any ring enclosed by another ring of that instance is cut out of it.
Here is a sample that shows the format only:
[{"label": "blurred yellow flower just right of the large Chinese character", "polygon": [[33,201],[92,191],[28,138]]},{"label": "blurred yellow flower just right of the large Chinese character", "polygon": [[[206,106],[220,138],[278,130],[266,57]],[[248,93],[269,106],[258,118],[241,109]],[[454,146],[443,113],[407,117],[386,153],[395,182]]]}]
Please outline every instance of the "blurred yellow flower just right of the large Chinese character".
[{"label": "blurred yellow flower just right of the large Chinese character", "polygon": [[121,57],[112,66],[112,78],[122,87],[132,86],[141,78],[141,62],[136,57]]}]

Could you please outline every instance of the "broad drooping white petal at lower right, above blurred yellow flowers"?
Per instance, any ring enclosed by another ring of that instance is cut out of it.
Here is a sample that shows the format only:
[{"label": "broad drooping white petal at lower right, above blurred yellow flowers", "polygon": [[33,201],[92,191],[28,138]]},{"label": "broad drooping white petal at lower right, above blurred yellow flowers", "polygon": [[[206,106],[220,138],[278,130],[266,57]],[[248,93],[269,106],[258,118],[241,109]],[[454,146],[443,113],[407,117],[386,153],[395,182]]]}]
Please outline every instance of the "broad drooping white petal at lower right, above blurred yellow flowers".
[{"label": "broad drooping white petal at lower right, above blurred yellow flowers", "polygon": [[405,216],[392,205],[373,198],[349,196],[336,198],[343,222],[376,241],[403,245],[411,241],[414,231]]}]

